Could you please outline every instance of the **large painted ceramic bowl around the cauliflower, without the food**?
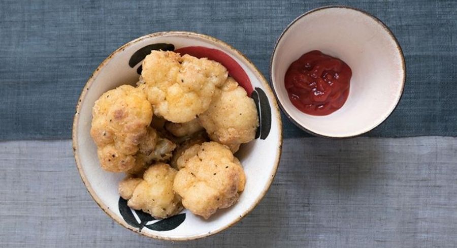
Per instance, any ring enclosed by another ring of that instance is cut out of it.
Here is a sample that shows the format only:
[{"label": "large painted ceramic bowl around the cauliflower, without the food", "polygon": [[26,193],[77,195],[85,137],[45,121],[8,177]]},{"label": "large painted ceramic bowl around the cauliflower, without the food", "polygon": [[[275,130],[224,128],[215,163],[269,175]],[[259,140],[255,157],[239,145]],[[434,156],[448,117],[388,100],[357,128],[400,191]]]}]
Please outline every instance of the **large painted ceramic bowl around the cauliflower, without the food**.
[{"label": "large painted ceramic bowl around the cauliflower, without the food", "polygon": [[[118,182],[123,173],[104,171],[97,159],[89,130],[92,107],[103,92],[138,81],[141,61],[153,49],[175,50],[209,57],[223,64],[254,99],[260,127],[256,139],[243,144],[235,154],[246,173],[246,187],[239,201],[218,210],[209,220],[187,210],[165,220],[154,220],[142,211],[127,207],[119,197]],[[133,40],[114,51],[87,81],[73,122],[73,149],[81,178],[95,202],[117,223],[145,236],[166,240],[189,240],[220,232],[249,213],[264,197],[278,168],[282,144],[279,108],[267,81],[255,66],[235,48],[215,38],[189,32],[162,32]]]}]

